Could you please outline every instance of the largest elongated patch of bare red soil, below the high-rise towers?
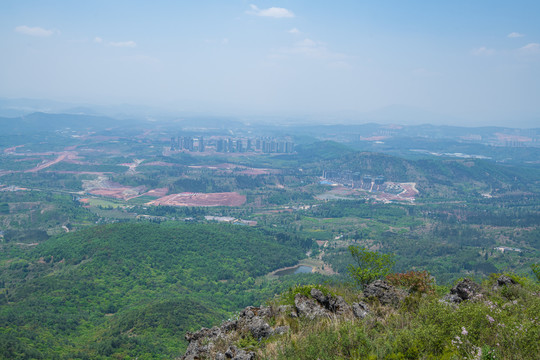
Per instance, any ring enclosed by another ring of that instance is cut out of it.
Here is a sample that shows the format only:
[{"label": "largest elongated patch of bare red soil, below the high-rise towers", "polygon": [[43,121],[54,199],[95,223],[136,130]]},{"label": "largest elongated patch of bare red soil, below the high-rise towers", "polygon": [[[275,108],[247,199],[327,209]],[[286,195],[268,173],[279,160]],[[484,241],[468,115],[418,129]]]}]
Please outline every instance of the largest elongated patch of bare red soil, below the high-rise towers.
[{"label": "largest elongated patch of bare red soil, below the high-rise towers", "polygon": [[151,201],[149,205],[169,206],[240,206],[246,202],[246,196],[237,192],[225,193],[180,193],[164,196]]}]

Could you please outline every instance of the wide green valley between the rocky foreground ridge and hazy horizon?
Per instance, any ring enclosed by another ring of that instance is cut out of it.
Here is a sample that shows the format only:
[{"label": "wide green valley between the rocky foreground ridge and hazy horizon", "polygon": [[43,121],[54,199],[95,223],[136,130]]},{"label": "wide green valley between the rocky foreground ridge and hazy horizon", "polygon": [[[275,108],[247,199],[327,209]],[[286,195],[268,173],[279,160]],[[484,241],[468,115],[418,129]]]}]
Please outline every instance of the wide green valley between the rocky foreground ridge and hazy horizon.
[{"label": "wide green valley between the rocky foreground ridge and hazy horizon", "polygon": [[[512,161],[411,153],[405,139],[366,151],[325,128],[288,129],[293,150],[272,152],[256,139],[279,126],[106,123],[0,136],[3,351],[179,356],[188,330],[291,286],[346,283],[351,245],[392,253],[394,271],[428,271],[441,287],[530,275],[540,258],[535,147]],[[246,144],[217,151],[231,132]],[[174,146],[208,143],[171,149],[171,133],[184,134]],[[469,146],[461,137],[455,146]]]}]

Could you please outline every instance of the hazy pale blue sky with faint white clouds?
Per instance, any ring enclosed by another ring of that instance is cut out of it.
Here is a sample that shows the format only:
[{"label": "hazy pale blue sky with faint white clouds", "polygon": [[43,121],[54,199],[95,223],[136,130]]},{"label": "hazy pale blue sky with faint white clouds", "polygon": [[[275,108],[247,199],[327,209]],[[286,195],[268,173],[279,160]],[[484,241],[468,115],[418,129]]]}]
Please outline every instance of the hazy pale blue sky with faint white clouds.
[{"label": "hazy pale blue sky with faint white clouds", "polygon": [[537,0],[2,0],[0,97],[539,127],[539,14]]}]

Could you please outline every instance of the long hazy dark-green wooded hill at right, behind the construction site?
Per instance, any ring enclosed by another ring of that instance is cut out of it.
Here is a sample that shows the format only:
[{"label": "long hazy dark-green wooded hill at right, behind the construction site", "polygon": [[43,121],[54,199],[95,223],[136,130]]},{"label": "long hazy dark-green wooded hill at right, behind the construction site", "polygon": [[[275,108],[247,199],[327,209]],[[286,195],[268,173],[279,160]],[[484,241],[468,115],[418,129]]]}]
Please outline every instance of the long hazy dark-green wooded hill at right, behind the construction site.
[{"label": "long hazy dark-green wooded hill at right, behind the construction site", "polygon": [[[482,159],[424,158],[410,160],[393,155],[352,152],[332,141],[311,144],[299,151],[306,173],[320,176],[324,170],[383,175],[386,181],[415,182],[420,196],[462,197],[479,193],[534,193],[540,189],[540,168]],[[310,156],[310,151],[325,156]]]}]

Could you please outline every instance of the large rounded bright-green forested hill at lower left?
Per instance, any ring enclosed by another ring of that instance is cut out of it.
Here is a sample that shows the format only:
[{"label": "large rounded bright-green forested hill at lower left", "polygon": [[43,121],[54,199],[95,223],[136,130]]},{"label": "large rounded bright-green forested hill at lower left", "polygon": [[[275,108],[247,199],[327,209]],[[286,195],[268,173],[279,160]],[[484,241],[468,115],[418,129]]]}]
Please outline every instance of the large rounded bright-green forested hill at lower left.
[{"label": "large rounded bright-green forested hill at lower left", "polygon": [[272,296],[279,284],[254,278],[295,264],[310,246],[253,228],[177,223],[52,238],[0,258],[0,358],[174,357],[186,330]]}]

